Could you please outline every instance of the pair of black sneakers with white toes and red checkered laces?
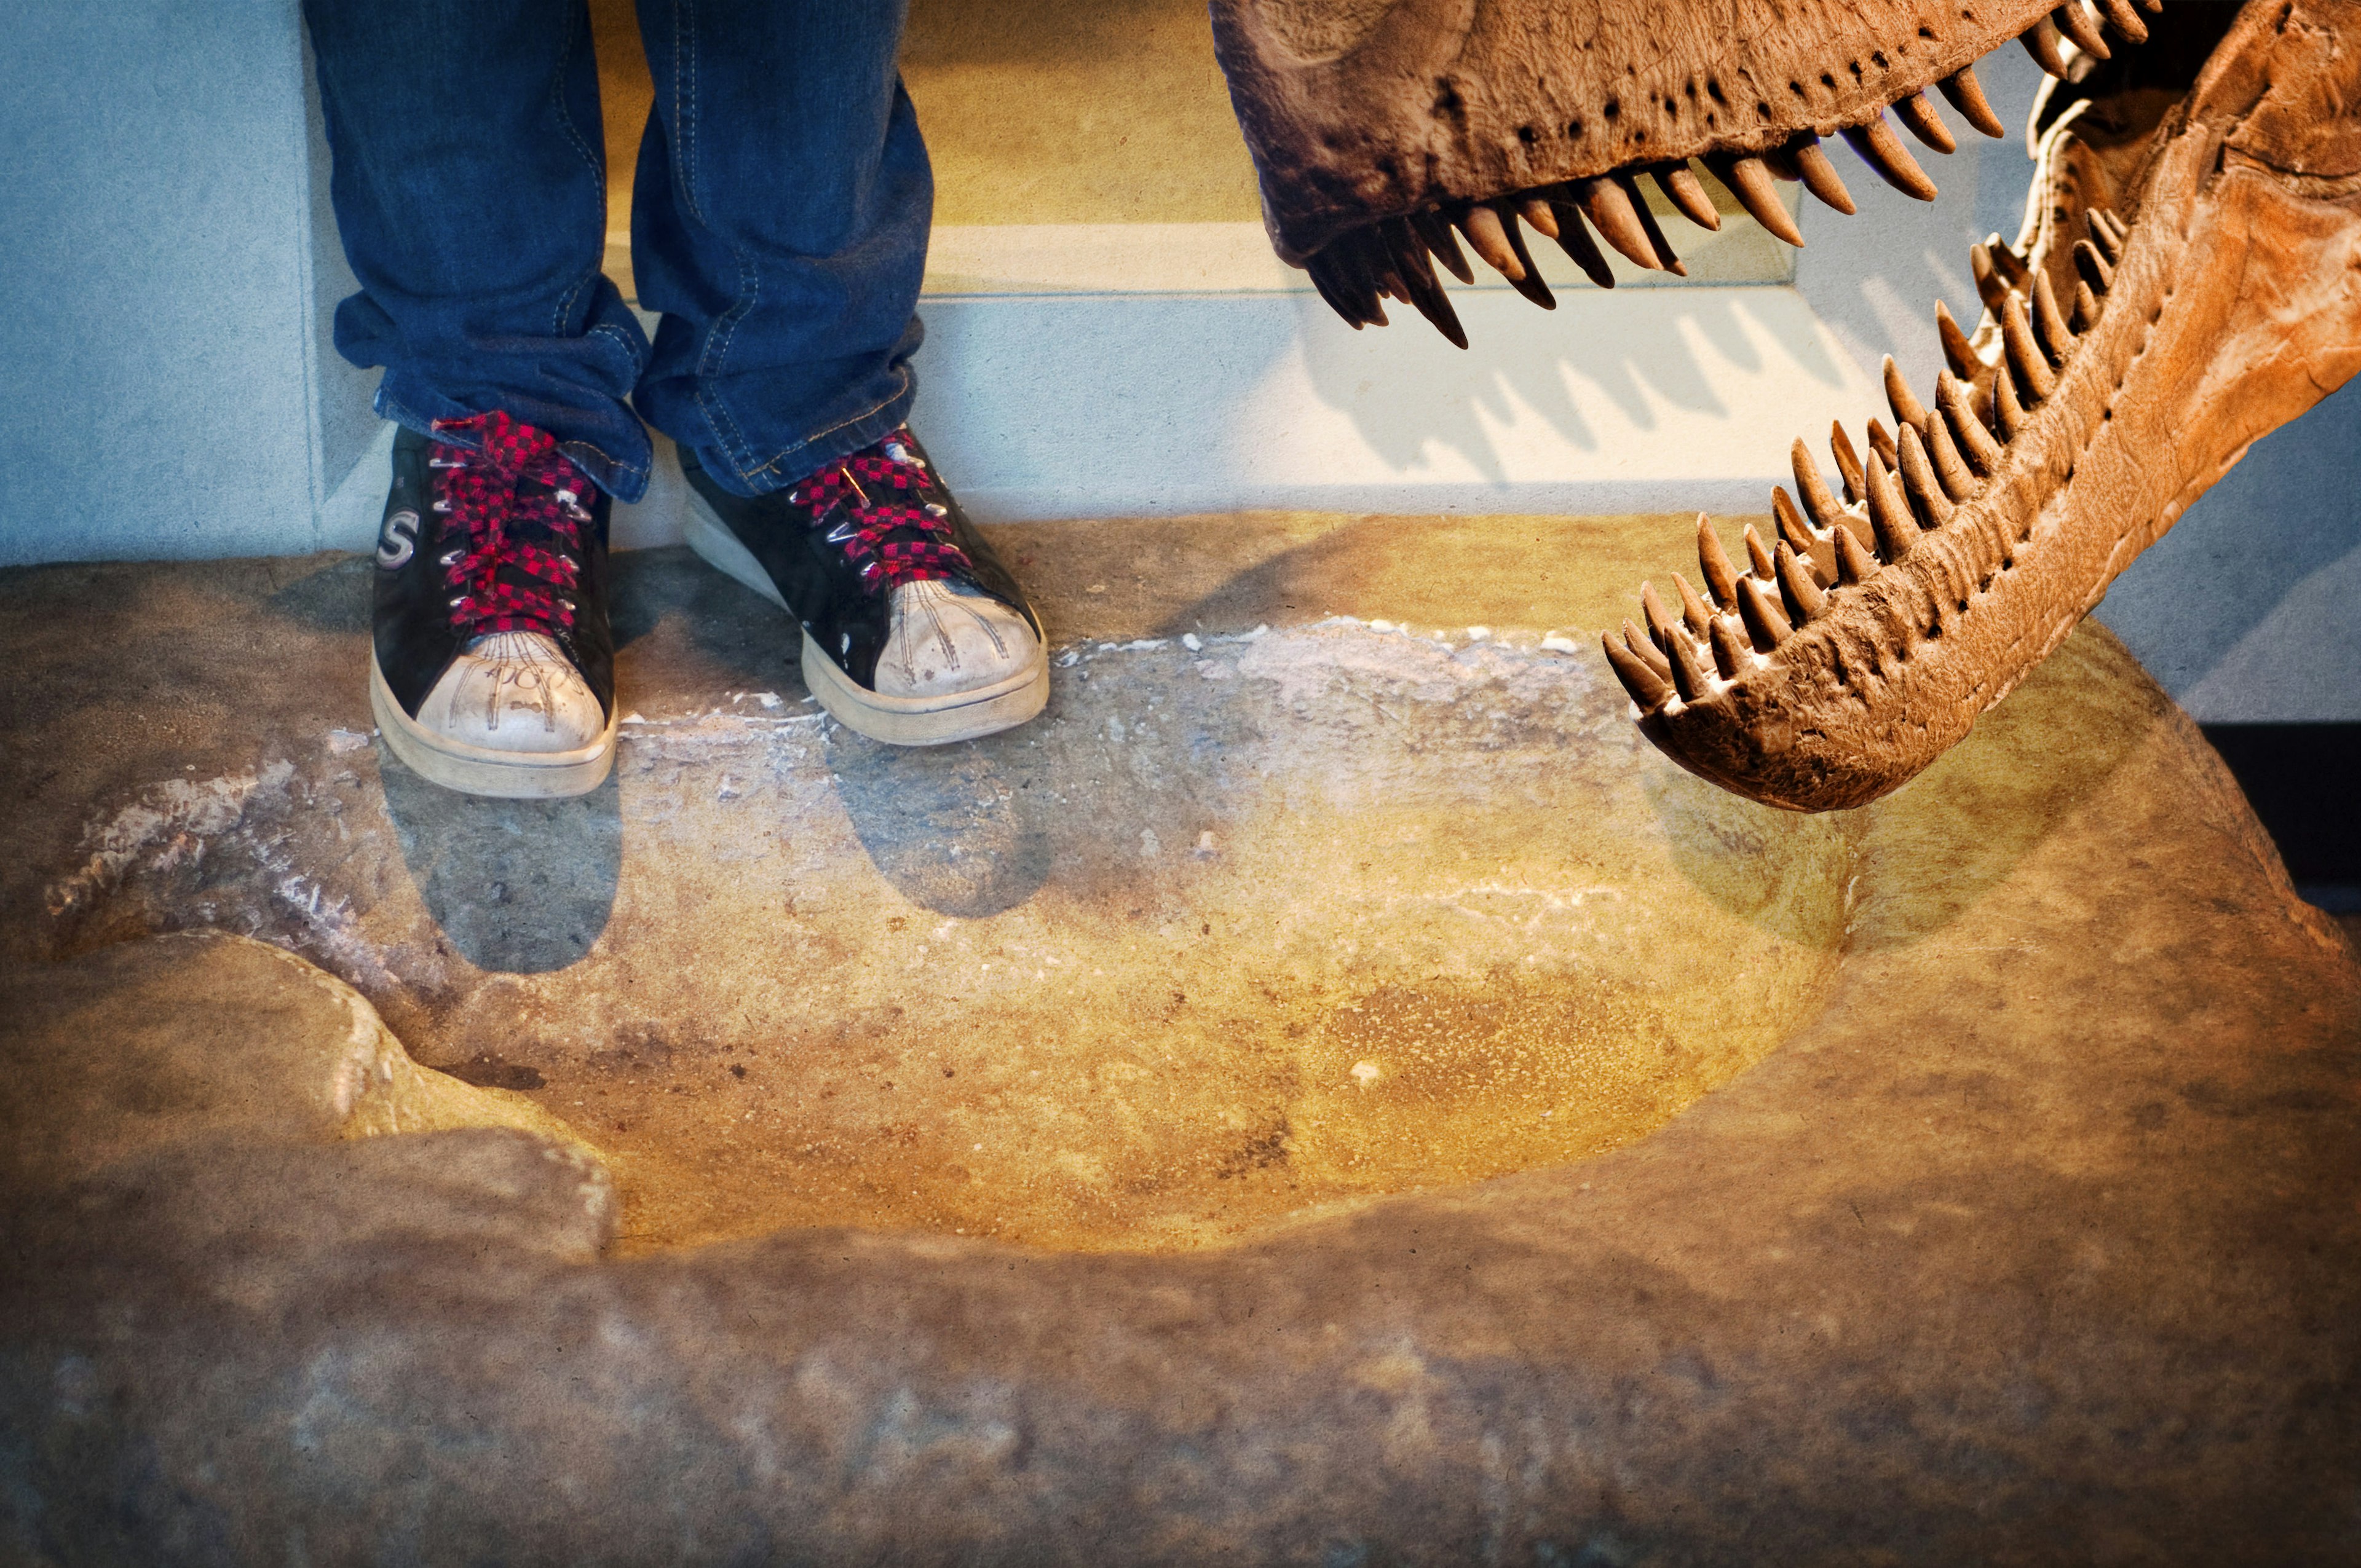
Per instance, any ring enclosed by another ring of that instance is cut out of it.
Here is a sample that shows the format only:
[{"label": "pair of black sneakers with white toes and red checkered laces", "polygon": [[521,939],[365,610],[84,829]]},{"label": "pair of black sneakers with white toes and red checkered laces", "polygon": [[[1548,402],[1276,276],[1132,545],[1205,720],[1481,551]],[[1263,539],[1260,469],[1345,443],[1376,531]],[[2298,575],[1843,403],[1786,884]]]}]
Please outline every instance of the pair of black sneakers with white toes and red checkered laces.
[{"label": "pair of black sneakers with white toes and red checkered laces", "polygon": [[[803,626],[848,727],[935,746],[1048,701],[1041,621],[909,430],[767,496],[682,449],[689,548]],[[614,767],[609,498],[505,413],[394,437],[368,701],[385,744],[472,796],[581,796]]]}]

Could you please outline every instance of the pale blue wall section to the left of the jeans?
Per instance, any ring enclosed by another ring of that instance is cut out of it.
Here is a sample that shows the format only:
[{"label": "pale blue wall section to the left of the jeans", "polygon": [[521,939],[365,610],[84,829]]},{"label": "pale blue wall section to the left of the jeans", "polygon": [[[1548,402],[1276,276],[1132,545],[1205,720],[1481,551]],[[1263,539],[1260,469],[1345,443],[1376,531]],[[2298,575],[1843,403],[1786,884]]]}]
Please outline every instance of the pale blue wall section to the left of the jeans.
[{"label": "pale blue wall section to the left of the jeans", "polygon": [[293,5],[0,0],[0,564],[316,548],[371,378]]}]

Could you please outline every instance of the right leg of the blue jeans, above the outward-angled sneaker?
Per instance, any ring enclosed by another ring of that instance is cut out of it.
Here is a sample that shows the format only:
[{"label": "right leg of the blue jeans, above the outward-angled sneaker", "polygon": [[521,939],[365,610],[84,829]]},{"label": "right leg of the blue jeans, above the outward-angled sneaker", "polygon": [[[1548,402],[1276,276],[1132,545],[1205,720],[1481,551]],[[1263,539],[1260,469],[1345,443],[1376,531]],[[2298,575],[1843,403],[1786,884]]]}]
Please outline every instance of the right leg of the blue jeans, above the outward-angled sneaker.
[{"label": "right leg of the blue jeans, above the outward-angled sneaker", "polygon": [[935,177],[907,0],[640,0],[656,113],[630,217],[661,309],[635,401],[720,484],[784,489],[909,413]]}]

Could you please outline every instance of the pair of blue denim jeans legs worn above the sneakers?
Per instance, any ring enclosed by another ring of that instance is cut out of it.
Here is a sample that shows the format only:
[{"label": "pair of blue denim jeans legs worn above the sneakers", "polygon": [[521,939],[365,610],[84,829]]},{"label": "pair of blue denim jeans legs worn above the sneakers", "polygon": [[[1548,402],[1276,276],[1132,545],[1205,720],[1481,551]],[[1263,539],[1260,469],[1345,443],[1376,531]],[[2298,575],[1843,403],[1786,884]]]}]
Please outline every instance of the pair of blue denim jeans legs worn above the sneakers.
[{"label": "pair of blue denim jeans legs worn above the sneakers", "polygon": [[[413,430],[503,409],[647,491],[645,418],[763,494],[909,413],[935,210],[895,73],[907,0],[637,0],[656,111],[630,215],[649,345],[600,272],[583,0],[305,0],[338,231],[335,347]],[[637,416],[633,413],[637,409]]]}]

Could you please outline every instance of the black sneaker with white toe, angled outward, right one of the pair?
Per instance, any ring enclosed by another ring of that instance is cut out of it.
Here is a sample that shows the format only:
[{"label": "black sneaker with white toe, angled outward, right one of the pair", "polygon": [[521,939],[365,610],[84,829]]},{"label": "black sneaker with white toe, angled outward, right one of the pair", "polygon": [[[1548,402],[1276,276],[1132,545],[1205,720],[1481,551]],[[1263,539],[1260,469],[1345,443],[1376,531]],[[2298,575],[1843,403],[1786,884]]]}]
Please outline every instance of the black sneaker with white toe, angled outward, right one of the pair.
[{"label": "black sneaker with white toe, angled outward, right one of the pair", "polygon": [[1048,701],[1041,619],[904,427],[770,496],[680,449],[689,548],[803,623],[803,680],[892,746],[1022,725]]}]

